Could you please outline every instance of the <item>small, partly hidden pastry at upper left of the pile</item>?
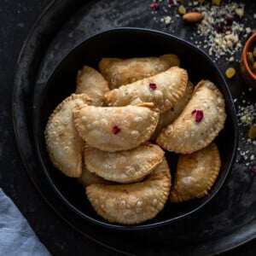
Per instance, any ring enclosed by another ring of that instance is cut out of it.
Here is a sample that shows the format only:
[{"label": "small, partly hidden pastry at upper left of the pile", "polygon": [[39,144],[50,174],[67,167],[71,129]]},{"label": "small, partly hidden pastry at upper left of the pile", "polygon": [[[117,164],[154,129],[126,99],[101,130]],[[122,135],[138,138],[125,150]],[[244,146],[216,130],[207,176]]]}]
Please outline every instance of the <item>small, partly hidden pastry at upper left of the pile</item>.
[{"label": "small, partly hidden pastry at upper left of the pile", "polygon": [[104,95],[108,92],[108,82],[96,69],[84,66],[77,76],[77,88],[75,93],[85,93],[92,99],[91,105],[103,106]]}]

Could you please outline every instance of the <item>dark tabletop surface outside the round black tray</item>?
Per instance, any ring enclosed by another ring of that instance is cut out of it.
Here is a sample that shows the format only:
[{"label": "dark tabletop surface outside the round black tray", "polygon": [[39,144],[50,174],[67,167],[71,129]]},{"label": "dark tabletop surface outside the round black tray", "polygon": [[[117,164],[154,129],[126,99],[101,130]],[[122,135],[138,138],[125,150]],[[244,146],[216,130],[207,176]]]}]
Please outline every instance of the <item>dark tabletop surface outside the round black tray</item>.
[{"label": "dark tabletop surface outside the round black tray", "polygon": [[[15,65],[21,46],[49,0],[0,2],[0,187],[24,214],[39,239],[54,255],[118,255],[73,230],[38,194],[20,160],[11,118]],[[256,212],[255,212],[256,214]],[[254,255],[256,241],[224,255]]]}]

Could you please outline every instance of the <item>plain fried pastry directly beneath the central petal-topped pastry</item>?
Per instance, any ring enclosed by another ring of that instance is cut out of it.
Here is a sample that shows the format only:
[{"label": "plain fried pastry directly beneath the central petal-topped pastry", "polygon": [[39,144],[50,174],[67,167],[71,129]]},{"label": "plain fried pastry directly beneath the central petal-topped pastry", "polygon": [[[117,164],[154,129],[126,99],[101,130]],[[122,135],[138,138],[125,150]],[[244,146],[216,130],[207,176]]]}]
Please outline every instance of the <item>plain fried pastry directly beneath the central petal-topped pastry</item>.
[{"label": "plain fried pastry directly beneath the central petal-topped pastry", "polygon": [[107,152],[88,145],[84,148],[84,163],[90,172],[117,183],[141,180],[163,160],[165,152],[152,143],[119,152]]}]

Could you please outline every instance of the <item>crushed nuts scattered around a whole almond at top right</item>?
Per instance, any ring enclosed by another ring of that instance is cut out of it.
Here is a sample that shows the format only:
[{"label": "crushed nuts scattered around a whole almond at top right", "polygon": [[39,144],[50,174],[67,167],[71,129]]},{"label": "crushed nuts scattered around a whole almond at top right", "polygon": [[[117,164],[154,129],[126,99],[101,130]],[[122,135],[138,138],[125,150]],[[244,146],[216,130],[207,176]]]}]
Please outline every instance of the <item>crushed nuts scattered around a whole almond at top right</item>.
[{"label": "crushed nuts scattered around a whole almond at top right", "polygon": [[[204,49],[212,56],[213,61],[222,56],[230,62],[237,60],[237,51],[242,49],[253,31],[253,28],[247,26],[247,19],[244,17],[246,7],[241,1],[154,0],[149,6],[154,21],[167,26],[161,27],[167,32],[177,32],[178,24],[186,20],[182,18],[183,15],[189,14],[189,23],[195,23],[195,26],[187,27],[190,36],[186,39]],[[190,15],[191,12],[194,14]],[[255,19],[255,14],[252,19]],[[183,33],[186,37],[187,32]]]}]

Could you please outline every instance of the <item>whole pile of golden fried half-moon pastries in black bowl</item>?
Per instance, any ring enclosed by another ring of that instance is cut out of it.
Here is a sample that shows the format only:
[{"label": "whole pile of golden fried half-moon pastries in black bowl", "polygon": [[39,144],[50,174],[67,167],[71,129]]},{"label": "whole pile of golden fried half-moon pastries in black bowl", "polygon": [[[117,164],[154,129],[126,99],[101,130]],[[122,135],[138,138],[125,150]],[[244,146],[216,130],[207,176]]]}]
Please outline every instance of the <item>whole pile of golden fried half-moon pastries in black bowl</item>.
[{"label": "whole pile of golden fried half-moon pastries in black bowl", "polygon": [[[75,92],[49,116],[50,160],[78,177],[111,223],[141,224],[167,201],[207,195],[218,177],[214,139],[224,128],[224,96],[210,80],[193,84],[179,66],[172,54],[104,57],[98,70],[78,71]],[[177,154],[175,177],[166,151]]]}]

